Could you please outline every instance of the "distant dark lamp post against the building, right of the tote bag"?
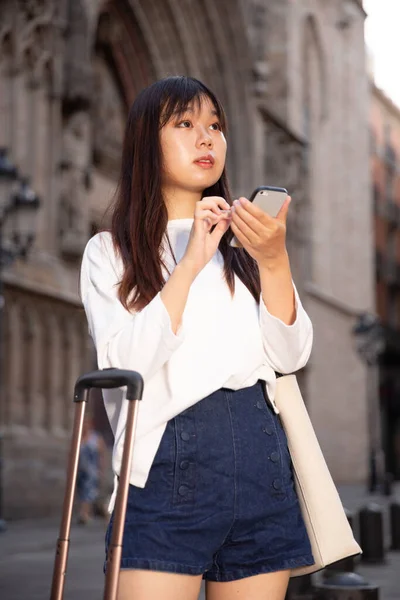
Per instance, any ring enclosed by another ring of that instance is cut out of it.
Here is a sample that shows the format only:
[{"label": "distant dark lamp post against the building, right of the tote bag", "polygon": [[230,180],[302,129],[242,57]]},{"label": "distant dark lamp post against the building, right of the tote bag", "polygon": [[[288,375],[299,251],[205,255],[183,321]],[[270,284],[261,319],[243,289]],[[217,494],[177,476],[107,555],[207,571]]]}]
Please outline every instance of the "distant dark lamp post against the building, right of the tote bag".
[{"label": "distant dark lamp post against the building, right of the tote bag", "polygon": [[385,461],[381,440],[381,415],[379,410],[378,363],[385,349],[383,327],[379,318],[371,313],[361,313],[353,327],[356,349],[367,366],[368,429],[369,429],[369,482],[368,491],[383,487]]}]

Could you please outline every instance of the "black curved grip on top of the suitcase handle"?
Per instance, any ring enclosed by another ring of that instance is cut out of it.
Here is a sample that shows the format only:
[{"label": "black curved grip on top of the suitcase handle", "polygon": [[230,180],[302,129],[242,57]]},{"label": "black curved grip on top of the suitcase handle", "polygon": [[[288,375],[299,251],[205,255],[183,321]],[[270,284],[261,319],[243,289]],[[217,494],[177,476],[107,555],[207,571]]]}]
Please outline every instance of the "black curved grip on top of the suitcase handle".
[{"label": "black curved grip on top of the suitcase handle", "polygon": [[81,375],[74,390],[74,402],[84,400],[84,391],[89,388],[113,389],[127,386],[127,400],[141,400],[143,394],[143,378],[136,371],[127,369],[100,369]]}]

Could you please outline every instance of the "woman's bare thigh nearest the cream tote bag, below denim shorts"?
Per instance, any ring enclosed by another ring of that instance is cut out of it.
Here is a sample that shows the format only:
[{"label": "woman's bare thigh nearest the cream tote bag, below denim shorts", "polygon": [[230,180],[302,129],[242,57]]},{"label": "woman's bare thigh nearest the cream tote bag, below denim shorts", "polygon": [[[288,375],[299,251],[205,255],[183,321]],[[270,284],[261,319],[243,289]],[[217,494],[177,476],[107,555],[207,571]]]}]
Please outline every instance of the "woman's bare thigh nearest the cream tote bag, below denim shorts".
[{"label": "woman's bare thigh nearest the cream tote bag, below denim shorts", "polygon": [[236,581],[207,581],[207,600],[284,600],[290,570],[253,575]]}]

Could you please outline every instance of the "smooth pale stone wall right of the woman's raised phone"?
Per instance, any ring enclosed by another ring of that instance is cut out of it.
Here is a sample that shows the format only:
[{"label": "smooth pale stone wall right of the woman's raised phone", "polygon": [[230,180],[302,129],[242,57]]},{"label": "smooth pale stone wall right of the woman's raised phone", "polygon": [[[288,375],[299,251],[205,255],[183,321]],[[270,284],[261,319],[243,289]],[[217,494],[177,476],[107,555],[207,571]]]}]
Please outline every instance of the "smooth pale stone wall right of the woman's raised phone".
[{"label": "smooth pale stone wall right of the woman's raised phone", "polygon": [[309,406],[335,479],[363,481],[367,384],[351,330],[375,308],[365,15],[350,1],[291,5],[288,120],[305,137],[310,174]]}]

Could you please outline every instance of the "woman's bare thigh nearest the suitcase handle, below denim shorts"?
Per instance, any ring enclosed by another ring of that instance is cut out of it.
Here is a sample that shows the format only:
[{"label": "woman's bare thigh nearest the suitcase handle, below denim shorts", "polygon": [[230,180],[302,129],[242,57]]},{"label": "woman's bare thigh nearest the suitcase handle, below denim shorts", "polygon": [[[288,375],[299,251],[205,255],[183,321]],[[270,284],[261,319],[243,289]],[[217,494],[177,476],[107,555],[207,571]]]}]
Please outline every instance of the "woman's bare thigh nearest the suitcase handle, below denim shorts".
[{"label": "woman's bare thigh nearest the suitcase handle, below denim shorts", "polygon": [[118,600],[197,600],[201,575],[180,575],[160,571],[120,571]]}]

